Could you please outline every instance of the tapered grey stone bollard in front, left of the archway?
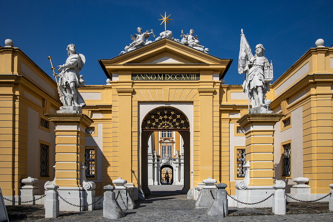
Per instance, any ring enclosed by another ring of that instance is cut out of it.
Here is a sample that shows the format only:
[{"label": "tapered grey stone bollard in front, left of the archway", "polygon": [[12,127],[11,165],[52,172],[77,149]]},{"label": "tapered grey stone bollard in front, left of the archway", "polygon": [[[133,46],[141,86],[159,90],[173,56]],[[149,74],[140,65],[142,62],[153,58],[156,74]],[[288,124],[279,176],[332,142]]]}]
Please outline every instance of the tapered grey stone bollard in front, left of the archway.
[{"label": "tapered grey stone bollard in front, left of the archway", "polygon": [[107,219],[119,219],[125,217],[124,211],[116,201],[115,189],[112,185],[104,186],[103,217]]}]

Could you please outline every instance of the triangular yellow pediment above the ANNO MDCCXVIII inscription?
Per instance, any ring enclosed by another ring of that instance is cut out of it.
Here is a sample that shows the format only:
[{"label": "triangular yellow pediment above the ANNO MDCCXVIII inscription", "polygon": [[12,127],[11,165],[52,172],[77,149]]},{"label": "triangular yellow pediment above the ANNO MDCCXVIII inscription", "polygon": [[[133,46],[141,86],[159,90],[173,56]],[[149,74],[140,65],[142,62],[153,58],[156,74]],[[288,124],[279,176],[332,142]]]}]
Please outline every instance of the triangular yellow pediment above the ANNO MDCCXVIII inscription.
[{"label": "triangular yellow pediment above the ANNO MDCCXVIII inscription", "polygon": [[223,78],[231,59],[220,59],[170,39],[162,39],[112,59],[99,60],[105,74],[214,72]]}]

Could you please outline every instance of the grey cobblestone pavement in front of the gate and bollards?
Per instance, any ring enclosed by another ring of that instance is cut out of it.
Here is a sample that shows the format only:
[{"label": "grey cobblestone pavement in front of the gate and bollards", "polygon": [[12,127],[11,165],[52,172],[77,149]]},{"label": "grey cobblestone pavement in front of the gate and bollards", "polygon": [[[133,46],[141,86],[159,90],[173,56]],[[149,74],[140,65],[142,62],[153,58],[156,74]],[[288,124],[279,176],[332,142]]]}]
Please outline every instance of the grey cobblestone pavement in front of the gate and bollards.
[{"label": "grey cobblestone pavement in front of the gate and bollards", "polygon": [[[103,210],[71,212],[61,211],[60,217],[45,219],[42,205],[7,206],[10,221],[332,221],[333,212],[328,211],[328,202],[296,203],[287,205],[287,215],[273,215],[272,208],[236,208],[229,207],[229,216],[225,218],[207,218],[207,209],[195,209],[194,200],[185,199],[185,195],[153,194],[146,200],[136,201],[137,209],[126,210],[126,217],[118,220],[103,218]],[[25,217],[25,218],[23,218]],[[28,217],[28,218],[26,218]]]}]

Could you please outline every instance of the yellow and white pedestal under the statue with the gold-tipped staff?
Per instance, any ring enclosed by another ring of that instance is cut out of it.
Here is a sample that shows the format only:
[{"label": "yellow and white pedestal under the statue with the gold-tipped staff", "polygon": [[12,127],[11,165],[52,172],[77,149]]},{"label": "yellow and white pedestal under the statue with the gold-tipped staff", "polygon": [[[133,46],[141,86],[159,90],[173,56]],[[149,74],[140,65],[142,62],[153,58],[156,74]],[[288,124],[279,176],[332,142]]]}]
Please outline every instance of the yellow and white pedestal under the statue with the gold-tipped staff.
[{"label": "yellow and white pedestal under the statue with the gold-tipped staff", "polygon": [[[85,130],[93,123],[88,116],[80,113],[61,113],[65,109],[79,107],[63,106],[57,114],[46,114],[46,116],[56,125],[56,165],[55,178],[47,184],[59,186],[59,195],[68,202],[75,205],[87,205],[94,202],[95,183],[88,182],[85,176]],[[89,203],[88,203],[89,202]],[[74,207],[63,200],[59,200],[60,211],[83,211],[88,208]],[[89,210],[93,210],[90,206]]]}]

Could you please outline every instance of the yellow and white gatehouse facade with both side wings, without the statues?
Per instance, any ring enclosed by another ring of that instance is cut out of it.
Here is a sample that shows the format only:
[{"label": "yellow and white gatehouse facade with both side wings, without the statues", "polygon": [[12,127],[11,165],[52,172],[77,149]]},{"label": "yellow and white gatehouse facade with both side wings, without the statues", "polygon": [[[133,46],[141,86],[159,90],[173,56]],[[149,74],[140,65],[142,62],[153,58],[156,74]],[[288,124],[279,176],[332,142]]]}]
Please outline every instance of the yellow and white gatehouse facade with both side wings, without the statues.
[{"label": "yellow and white gatehouse facade with both side wings, without the statues", "polygon": [[289,193],[293,179],[304,177],[311,194],[329,192],[333,48],[310,48],[270,85],[269,107],[283,115],[274,130],[261,124],[260,138],[271,148],[256,159],[251,144],[260,145],[260,138],[249,139],[240,121],[248,113],[247,95],[241,83],[223,80],[238,75],[227,72],[231,59],[166,37],[99,62],[106,84],[78,89],[93,123],[85,120],[78,126],[84,133],[56,139],[62,132],[46,116],[62,106],[56,82],[19,48],[0,48],[0,187],[6,198],[22,199],[28,183],[21,180],[28,177],[38,179],[31,195],[43,195],[55,172],[61,186],[82,187],[81,162],[97,196],[122,177],[140,198],[161,183],[163,167],[189,196],[207,177],[235,195],[243,189],[235,184],[244,180],[247,161],[253,180],[245,186],[267,188],[282,180]]}]

